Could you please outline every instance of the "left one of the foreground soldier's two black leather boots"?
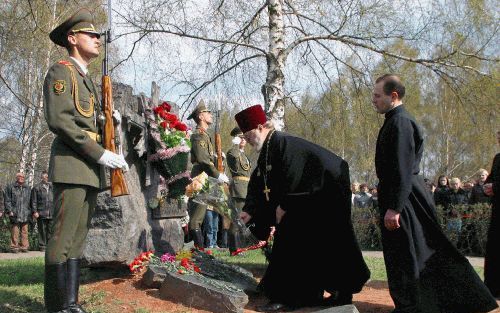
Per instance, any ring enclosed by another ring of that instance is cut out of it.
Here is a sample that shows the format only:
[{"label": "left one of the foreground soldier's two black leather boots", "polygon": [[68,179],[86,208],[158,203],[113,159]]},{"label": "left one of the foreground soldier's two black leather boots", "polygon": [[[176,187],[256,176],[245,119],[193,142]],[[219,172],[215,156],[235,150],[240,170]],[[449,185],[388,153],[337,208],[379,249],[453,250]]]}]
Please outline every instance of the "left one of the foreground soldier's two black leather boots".
[{"label": "left one of the foreground soldier's two black leather boots", "polygon": [[70,313],[66,294],[66,262],[45,264],[43,297],[47,312]]}]

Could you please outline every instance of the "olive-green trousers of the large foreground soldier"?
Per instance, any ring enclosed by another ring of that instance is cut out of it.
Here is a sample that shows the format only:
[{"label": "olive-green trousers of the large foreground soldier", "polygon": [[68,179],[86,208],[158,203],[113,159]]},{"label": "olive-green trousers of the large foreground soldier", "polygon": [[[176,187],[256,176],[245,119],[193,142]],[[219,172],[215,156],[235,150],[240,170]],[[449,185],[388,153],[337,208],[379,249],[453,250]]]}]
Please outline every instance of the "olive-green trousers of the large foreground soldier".
[{"label": "olive-green trousers of the large foreground soldier", "polygon": [[82,256],[98,192],[91,186],[54,183],[54,218],[45,250],[45,264]]}]

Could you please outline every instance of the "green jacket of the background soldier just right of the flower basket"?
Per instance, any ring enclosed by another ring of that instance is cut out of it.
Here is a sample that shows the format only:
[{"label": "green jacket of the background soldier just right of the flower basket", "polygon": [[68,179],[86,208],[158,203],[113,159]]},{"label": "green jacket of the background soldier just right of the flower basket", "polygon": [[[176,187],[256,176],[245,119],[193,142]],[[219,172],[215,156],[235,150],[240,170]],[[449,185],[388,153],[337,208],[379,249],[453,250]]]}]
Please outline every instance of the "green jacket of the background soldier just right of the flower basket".
[{"label": "green jacket of the background soldier just right of the flower basket", "polygon": [[210,136],[203,129],[196,127],[191,135],[191,177],[195,177],[201,172],[207,173],[208,176],[218,178],[220,172],[214,165],[212,141]]}]

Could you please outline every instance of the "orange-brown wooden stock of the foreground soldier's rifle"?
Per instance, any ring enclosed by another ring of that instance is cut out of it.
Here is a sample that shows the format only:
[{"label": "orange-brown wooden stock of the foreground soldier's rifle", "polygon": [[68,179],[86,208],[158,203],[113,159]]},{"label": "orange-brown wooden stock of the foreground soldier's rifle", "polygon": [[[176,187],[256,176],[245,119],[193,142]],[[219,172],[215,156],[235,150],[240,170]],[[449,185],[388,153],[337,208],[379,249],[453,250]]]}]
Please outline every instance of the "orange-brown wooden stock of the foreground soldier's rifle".
[{"label": "orange-brown wooden stock of the foreground soldier's rifle", "polygon": [[[103,111],[106,117],[104,122],[104,149],[111,152],[116,152],[116,134],[115,125],[113,122],[113,96],[111,87],[111,77],[104,75],[102,77],[102,102]],[[127,183],[123,176],[123,171],[119,168],[110,169],[111,176],[111,196],[118,197],[128,195]]]}]

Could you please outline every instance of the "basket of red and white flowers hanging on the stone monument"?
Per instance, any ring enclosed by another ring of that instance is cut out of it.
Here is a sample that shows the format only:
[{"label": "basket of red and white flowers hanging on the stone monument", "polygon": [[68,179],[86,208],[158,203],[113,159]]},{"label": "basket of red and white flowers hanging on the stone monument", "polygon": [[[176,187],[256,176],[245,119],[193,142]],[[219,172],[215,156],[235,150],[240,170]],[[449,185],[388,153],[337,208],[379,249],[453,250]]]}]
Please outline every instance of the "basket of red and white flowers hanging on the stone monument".
[{"label": "basket of red and white flowers hanging on the stone monument", "polygon": [[153,109],[154,115],[148,118],[155,149],[148,161],[154,162],[165,178],[168,196],[177,198],[184,194],[184,188],[190,182],[187,168],[191,142],[186,124],[170,113],[171,109],[168,102],[163,102]]}]

